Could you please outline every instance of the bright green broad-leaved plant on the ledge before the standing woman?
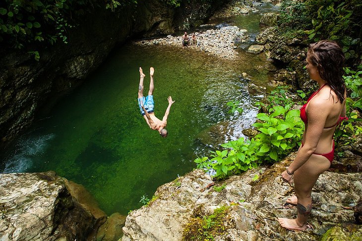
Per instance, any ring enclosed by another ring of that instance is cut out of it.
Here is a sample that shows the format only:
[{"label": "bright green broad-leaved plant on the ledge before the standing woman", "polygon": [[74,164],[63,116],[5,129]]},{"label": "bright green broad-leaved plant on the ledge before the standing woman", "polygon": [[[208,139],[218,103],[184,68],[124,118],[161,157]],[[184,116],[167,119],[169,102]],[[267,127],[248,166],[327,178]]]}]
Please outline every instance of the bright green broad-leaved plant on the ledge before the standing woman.
[{"label": "bright green broad-leaved plant on the ledge before the standing woman", "polygon": [[275,106],[270,115],[257,114],[259,122],[253,126],[259,134],[251,140],[240,138],[222,144],[227,149],[213,152],[211,159],[196,159],[197,168],[214,170],[214,177],[223,179],[256,168],[263,162],[279,161],[300,144],[303,133],[300,111],[289,108]]}]

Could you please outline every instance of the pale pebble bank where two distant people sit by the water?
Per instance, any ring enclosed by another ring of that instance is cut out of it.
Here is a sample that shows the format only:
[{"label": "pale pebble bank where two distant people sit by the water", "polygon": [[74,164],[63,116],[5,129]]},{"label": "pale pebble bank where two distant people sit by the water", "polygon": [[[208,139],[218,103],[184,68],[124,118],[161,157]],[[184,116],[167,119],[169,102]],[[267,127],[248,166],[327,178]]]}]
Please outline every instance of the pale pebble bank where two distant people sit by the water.
[{"label": "pale pebble bank where two distant people sit by the water", "polygon": [[[197,44],[192,45],[191,41],[191,45],[186,48],[203,51],[223,59],[234,60],[238,56],[235,43],[244,43],[248,39],[246,32],[246,29],[239,29],[237,26],[196,32]],[[182,48],[182,36],[168,35],[165,38],[135,41],[134,44],[140,46],[166,45]]]}]

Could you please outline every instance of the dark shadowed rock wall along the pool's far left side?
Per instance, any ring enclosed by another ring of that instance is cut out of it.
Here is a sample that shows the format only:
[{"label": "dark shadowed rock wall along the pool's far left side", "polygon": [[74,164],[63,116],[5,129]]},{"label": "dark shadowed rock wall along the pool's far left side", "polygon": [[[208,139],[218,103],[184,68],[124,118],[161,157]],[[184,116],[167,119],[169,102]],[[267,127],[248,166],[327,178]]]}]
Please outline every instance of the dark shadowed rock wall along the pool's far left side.
[{"label": "dark shadowed rock wall along the pool's far left side", "polygon": [[132,37],[167,35],[201,23],[230,0],[182,0],[174,7],[164,0],[138,0],[121,12],[94,5],[68,29],[68,44],[39,49],[35,61],[27,51],[0,48],[0,144],[24,131],[58,97],[81,84],[116,45]]}]

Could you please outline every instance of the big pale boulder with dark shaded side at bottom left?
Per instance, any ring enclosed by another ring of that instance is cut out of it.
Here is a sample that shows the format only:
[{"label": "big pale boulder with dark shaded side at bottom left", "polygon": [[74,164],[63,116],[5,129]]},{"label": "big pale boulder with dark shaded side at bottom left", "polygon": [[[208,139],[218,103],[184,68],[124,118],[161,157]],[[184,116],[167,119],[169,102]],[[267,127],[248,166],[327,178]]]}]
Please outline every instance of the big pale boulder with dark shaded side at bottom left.
[{"label": "big pale boulder with dark shaded side at bottom left", "polygon": [[83,186],[54,172],[0,174],[0,240],[87,240],[106,220],[90,203]]}]

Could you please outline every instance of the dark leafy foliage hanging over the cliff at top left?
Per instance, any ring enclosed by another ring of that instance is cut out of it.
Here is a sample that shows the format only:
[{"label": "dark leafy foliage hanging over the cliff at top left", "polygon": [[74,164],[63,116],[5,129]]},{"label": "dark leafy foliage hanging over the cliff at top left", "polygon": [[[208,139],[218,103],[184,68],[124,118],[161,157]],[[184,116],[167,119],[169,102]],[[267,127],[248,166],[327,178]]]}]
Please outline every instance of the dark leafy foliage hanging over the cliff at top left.
[{"label": "dark leafy foliage hanging over the cliff at top left", "polygon": [[39,60],[39,50],[57,41],[68,43],[68,31],[85,12],[103,7],[115,11],[136,0],[2,0],[0,45],[23,49]]}]

